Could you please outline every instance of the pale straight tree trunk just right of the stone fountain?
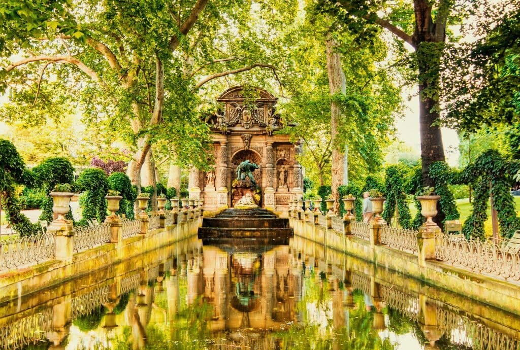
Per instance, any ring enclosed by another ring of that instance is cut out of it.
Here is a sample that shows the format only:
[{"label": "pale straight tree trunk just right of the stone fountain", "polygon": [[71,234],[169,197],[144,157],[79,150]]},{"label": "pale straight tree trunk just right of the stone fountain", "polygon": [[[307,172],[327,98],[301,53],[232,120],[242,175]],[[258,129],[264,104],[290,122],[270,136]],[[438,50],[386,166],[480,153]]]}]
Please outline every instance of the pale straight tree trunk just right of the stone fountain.
[{"label": "pale straight tree trunk just right of the stone fountain", "polygon": [[[341,65],[341,56],[335,50],[336,43],[332,39],[330,34],[327,34],[325,39],[325,45],[327,49],[327,76],[329,78],[329,89],[330,94],[335,95],[336,93],[345,93],[346,81],[345,74]],[[339,135],[341,109],[340,105],[336,102],[330,104],[331,112],[331,143],[332,143],[332,196],[336,199],[336,209],[339,207],[339,194],[337,187],[342,184],[343,181],[343,167],[344,167],[344,142],[341,141]]]}]

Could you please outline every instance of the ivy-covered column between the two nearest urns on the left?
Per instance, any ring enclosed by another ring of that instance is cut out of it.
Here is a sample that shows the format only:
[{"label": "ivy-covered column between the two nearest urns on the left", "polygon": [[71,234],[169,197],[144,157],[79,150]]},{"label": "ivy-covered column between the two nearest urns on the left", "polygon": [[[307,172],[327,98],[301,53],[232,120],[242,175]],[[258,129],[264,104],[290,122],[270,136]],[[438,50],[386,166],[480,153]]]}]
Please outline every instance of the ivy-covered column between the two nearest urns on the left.
[{"label": "ivy-covered column between the two nearest urns on the left", "polygon": [[86,220],[96,218],[99,222],[105,221],[107,215],[108,179],[101,169],[85,169],[76,181],[77,191],[86,191],[83,201],[83,219],[78,225],[86,225]]}]

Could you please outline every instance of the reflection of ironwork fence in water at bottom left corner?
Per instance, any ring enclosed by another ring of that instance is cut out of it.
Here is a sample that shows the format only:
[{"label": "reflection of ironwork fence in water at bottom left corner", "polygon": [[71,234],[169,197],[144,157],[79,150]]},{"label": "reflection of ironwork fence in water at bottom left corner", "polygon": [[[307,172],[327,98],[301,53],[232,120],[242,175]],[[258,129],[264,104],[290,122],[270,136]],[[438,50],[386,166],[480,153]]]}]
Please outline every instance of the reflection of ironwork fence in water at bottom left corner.
[{"label": "reflection of ironwork fence in water at bottom left corner", "polygon": [[0,348],[21,349],[37,341],[46,341],[46,332],[53,330],[53,309],[45,308],[37,314],[20,318],[0,328]]}]

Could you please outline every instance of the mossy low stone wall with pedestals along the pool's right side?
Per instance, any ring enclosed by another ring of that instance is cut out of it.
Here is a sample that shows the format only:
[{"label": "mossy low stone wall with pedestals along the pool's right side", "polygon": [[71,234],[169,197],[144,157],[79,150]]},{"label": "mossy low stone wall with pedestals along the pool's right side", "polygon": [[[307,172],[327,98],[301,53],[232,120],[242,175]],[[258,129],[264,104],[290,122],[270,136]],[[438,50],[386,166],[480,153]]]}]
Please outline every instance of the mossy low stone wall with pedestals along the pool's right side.
[{"label": "mossy low stone wall with pedestals along the pool's right side", "polygon": [[[290,225],[294,228],[295,236],[370,262],[378,270],[393,270],[427,285],[444,288],[520,315],[520,285],[516,281],[501,280],[435,260],[435,254],[432,258],[427,251],[432,242],[427,242],[420,234],[417,237],[418,253],[412,254],[381,244],[378,224],[370,225],[370,240],[359,238],[362,235],[354,236],[351,232],[353,225],[348,220],[345,221],[345,234],[333,230],[330,222],[319,225],[317,217],[316,220],[305,220],[301,213],[290,215]],[[435,238],[428,238],[433,240],[435,247]]]}]

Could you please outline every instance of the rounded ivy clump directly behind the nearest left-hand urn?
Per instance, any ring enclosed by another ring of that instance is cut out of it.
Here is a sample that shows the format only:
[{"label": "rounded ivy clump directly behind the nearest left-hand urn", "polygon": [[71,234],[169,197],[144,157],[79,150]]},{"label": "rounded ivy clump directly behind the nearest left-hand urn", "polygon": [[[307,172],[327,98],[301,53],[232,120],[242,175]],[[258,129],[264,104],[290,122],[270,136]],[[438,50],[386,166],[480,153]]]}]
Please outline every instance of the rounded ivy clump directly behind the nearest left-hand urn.
[{"label": "rounded ivy clump directly behind the nearest left-hand urn", "polygon": [[[74,168],[68,159],[54,157],[43,160],[32,171],[37,185],[47,194],[47,197],[42,201],[40,220],[51,222],[53,221],[53,199],[49,196],[49,193],[59,183],[73,183]],[[66,218],[72,219],[71,211]]]}]

